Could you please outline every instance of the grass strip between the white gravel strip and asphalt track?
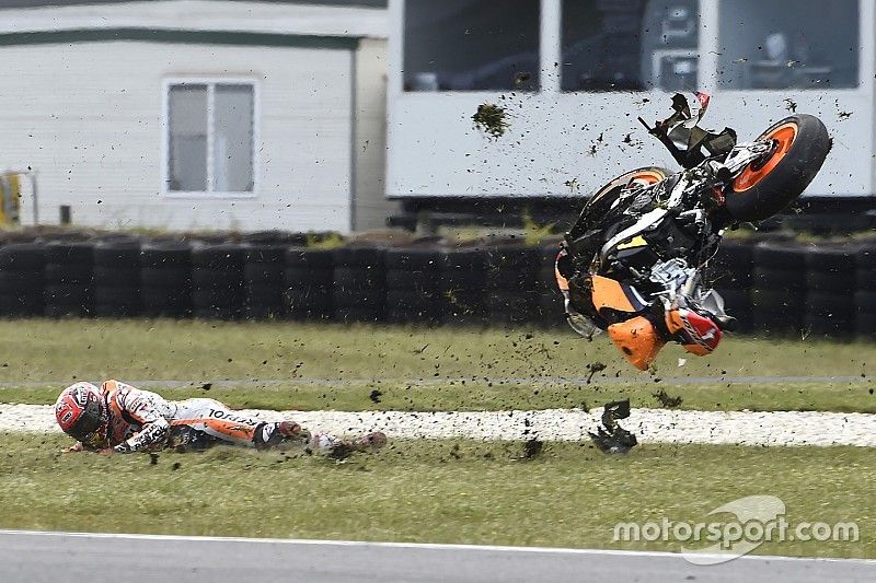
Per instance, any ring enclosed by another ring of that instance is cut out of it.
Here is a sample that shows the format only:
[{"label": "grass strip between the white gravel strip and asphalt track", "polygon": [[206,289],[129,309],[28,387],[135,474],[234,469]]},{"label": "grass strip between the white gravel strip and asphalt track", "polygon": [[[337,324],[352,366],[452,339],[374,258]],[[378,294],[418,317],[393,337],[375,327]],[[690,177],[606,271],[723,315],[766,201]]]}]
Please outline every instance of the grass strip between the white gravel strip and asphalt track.
[{"label": "grass strip between the white gravel strip and asphalt track", "polygon": [[618,522],[703,522],[752,494],[787,521],[856,522],[858,543],[758,552],[876,557],[876,457],[866,448],[399,442],[345,463],[278,452],[59,454],[56,435],[0,435],[0,527],[679,550],[614,543]]}]

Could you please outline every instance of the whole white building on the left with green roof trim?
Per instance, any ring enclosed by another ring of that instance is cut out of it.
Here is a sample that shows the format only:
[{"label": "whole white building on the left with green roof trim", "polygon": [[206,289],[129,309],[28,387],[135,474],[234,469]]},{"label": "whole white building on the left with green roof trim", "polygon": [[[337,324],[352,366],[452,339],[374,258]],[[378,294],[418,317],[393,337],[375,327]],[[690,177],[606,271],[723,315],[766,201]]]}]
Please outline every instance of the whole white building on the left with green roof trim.
[{"label": "whole white building on the left with green roof trim", "polygon": [[0,0],[0,171],[23,222],[383,223],[385,1]]}]

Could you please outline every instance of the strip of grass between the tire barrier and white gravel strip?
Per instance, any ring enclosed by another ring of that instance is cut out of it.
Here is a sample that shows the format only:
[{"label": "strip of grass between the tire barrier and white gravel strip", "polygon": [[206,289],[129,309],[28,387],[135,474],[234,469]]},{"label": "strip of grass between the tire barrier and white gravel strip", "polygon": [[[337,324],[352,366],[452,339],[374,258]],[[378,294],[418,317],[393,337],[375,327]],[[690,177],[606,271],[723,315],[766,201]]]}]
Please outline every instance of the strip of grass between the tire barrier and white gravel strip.
[{"label": "strip of grass between the tire barrier and white gravel strip", "polygon": [[[873,342],[729,337],[707,358],[667,347],[656,370],[638,373],[606,337],[588,342],[565,329],[38,319],[0,322],[0,338],[4,403],[53,403],[76,380],[114,377],[191,382],[158,390],[274,409],[543,409],[625,396],[656,407],[664,389],[691,409],[876,412]],[[592,363],[606,369],[581,382]],[[763,375],[863,382],[724,381]],[[684,383],[691,377],[711,381]]]}]

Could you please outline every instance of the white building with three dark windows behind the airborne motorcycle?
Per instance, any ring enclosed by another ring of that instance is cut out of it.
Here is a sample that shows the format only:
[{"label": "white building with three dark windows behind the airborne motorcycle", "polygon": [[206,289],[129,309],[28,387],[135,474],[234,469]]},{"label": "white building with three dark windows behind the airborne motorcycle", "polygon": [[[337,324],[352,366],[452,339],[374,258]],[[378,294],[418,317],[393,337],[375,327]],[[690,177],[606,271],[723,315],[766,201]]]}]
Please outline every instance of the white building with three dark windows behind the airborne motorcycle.
[{"label": "white building with three dark windows behind the airborne motorcycle", "polygon": [[[676,167],[636,120],[713,94],[705,127],[750,140],[792,110],[834,148],[807,195],[876,193],[872,0],[390,0],[387,193],[581,196],[637,166]],[[473,127],[504,106],[505,136]]]}]

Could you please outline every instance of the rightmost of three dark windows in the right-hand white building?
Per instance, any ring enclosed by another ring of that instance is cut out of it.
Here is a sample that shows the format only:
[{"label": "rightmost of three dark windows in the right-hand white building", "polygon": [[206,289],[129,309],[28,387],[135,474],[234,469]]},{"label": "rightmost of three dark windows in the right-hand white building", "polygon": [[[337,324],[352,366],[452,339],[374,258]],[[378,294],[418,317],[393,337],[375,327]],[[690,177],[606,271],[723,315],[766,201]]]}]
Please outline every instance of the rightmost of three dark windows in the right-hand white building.
[{"label": "rightmost of three dark windows in the right-hand white building", "polygon": [[719,4],[718,86],[857,86],[858,0]]}]

